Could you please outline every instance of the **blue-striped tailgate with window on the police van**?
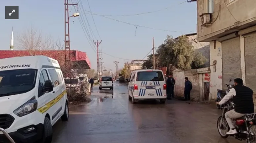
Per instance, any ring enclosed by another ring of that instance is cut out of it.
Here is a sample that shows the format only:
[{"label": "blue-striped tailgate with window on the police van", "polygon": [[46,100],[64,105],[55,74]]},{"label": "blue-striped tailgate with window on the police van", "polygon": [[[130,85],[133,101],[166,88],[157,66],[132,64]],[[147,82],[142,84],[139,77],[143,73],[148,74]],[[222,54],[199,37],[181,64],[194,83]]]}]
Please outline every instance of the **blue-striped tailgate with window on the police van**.
[{"label": "blue-striped tailgate with window on the police van", "polygon": [[160,70],[137,72],[138,96],[164,96],[165,80]]}]

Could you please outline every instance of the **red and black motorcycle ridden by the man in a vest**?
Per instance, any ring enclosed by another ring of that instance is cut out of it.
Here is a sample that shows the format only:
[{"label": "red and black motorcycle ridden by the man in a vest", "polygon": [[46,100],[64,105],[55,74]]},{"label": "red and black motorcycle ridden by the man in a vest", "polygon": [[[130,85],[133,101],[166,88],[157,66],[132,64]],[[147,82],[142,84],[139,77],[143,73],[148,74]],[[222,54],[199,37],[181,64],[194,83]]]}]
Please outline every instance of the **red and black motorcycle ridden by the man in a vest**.
[{"label": "red and black motorcycle ridden by the man in a vest", "polygon": [[[231,81],[231,79],[230,79]],[[218,90],[217,93],[217,100],[216,102],[220,102],[222,98],[229,93],[230,89],[232,88],[232,85],[226,84],[228,89]],[[228,136],[233,136],[237,140],[245,140],[247,143],[256,143],[256,113],[253,114],[246,114],[245,116],[233,119],[233,124],[235,125],[235,128],[237,130],[237,134],[234,135],[227,135],[227,132],[230,130],[230,127],[226,121],[225,113],[234,109],[234,103],[230,99],[228,102],[226,102],[224,105],[217,105],[217,108],[220,110],[223,110],[222,115],[217,120],[217,128],[218,132],[223,138],[227,138]],[[222,132],[224,131],[224,132]]]}]

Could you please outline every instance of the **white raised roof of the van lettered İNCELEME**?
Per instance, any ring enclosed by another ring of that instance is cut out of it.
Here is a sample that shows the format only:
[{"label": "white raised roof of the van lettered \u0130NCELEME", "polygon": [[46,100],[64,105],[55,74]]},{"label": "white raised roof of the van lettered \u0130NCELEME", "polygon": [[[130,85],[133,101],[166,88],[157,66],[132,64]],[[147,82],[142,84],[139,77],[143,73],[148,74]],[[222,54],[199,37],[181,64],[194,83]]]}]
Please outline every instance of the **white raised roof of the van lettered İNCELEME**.
[{"label": "white raised roof of the van lettered \u0130NCELEME", "polygon": [[0,71],[17,69],[60,69],[59,62],[46,56],[23,56],[0,59]]}]

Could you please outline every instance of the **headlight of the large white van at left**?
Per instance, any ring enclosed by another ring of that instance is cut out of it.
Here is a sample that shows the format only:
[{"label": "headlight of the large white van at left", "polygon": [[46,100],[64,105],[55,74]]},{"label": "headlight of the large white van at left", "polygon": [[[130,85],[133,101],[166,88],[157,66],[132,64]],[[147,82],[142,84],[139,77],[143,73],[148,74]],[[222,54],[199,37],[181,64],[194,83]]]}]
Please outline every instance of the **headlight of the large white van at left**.
[{"label": "headlight of the large white van at left", "polygon": [[13,111],[13,113],[19,117],[30,114],[37,109],[37,100],[35,96],[28,100],[25,104]]}]

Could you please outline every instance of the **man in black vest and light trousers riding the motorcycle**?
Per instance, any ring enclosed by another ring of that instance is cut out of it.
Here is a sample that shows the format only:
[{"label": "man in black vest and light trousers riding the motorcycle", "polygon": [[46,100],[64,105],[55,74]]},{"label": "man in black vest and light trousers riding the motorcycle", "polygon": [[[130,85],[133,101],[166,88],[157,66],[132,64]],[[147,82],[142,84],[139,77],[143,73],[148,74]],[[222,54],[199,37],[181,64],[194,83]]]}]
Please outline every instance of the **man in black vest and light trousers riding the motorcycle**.
[{"label": "man in black vest and light trousers riding the motorcycle", "polygon": [[243,85],[243,80],[241,78],[234,79],[235,86],[230,89],[229,93],[224,96],[224,98],[217,102],[216,104],[223,105],[231,98],[235,104],[233,110],[228,111],[225,114],[226,121],[230,127],[227,132],[228,135],[237,134],[237,131],[233,125],[233,119],[240,118],[246,114],[254,113],[253,104],[253,91]]}]

